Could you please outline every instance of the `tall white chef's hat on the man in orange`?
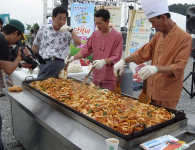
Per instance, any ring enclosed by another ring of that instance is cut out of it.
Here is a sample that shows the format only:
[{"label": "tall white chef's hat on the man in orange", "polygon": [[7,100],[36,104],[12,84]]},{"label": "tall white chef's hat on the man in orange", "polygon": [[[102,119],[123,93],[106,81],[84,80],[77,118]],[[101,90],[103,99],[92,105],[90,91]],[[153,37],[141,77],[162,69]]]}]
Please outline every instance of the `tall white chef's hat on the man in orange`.
[{"label": "tall white chef's hat on the man in orange", "polygon": [[169,12],[167,0],[141,0],[141,6],[148,19]]}]

